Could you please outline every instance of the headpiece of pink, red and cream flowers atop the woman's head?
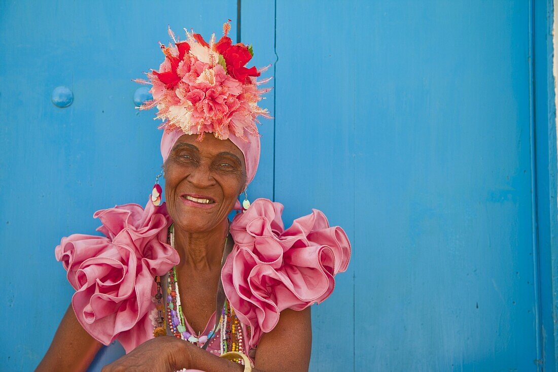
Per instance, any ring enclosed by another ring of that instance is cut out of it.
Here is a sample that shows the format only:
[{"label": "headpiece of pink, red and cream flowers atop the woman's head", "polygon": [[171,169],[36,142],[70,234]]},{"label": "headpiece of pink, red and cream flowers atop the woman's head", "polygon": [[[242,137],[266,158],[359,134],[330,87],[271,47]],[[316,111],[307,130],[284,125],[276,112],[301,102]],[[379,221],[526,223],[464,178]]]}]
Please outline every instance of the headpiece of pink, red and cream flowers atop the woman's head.
[{"label": "headpiece of pink, red and cream flowers atop the woman's head", "polygon": [[253,56],[252,46],[232,44],[227,36],[230,20],[224,23],[223,37],[217,42],[215,34],[208,43],[200,34],[184,30],[187,40],[178,41],[169,27],[174,45],[160,43],[165,61],[158,71],[146,73],[149,80],[134,80],[152,85],[153,99],[138,108],[157,107],[155,119],[163,120],[159,128],[180,128],[186,134],[198,134],[198,141],[205,132],[222,140],[229,134],[243,141],[249,141],[249,135],[259,136],[257,117],[271,116],[257,103],[271,88],[258,89],[258,85],[271,78],[257,82],[256,77],[269,66],[259,70],[246,67]]}]

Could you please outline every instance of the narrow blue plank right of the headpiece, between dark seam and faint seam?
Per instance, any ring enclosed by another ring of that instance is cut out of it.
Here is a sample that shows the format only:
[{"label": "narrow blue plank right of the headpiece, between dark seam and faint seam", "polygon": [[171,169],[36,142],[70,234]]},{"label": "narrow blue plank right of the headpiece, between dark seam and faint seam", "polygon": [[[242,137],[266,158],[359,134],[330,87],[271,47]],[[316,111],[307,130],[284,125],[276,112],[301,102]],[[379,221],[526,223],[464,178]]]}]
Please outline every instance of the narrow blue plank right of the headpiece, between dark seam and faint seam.
[{"label": "narrow blue plank right of the headpiece, between dark seam and faint seam", "polygon": [[[355,242],[354,4],[276,4],[275,199],[285,224],[318,208]],[[362,249],[362,248],[361,248]],[[364,250],[366,250],[364,248]],[[350,371],[354,364],[355,247],[335,290],[312,307],[312,371]]]}]

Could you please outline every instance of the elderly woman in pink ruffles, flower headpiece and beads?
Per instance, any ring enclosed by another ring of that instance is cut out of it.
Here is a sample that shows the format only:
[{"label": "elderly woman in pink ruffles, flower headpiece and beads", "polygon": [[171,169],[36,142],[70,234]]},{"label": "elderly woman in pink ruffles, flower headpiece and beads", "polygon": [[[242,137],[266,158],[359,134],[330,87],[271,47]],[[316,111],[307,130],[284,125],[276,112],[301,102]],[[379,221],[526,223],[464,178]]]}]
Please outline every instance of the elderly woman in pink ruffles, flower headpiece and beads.
[{"label": "elderly woman in pink ruffles, flower headpiece and beads", "polygon": [[38,370],[85,370],[114,340],[126,355],[103,371],[308,369],[310,306],[347,269],[350,243],[317,209],[285,229],[280,203],[249,203],[267,90],[261,70],[246,68],[251,47],[233,45],[229,30],[209,43],[169,30],[159,70],[138,80],[152,84],[141,108],[165,121],[166,203],[157,177],[145,209],[94,214],[104,236],[62,239],[56,259],[76,293]]}]

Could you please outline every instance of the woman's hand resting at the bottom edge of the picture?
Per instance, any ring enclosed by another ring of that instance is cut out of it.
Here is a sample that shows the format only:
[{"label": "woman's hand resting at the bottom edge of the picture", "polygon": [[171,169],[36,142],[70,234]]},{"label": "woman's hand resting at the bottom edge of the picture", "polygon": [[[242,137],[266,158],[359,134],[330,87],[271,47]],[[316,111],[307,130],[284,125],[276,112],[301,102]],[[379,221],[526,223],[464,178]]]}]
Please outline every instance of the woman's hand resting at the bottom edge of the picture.
[{"label": "woman's hand resting at the bottom edge of the picture", "polygon": [[150,371],[174,372],[188,368],[189,342],[172,336],[155,337],[143,342],[136,349],[113,363],[103,367],[101,372]]}]

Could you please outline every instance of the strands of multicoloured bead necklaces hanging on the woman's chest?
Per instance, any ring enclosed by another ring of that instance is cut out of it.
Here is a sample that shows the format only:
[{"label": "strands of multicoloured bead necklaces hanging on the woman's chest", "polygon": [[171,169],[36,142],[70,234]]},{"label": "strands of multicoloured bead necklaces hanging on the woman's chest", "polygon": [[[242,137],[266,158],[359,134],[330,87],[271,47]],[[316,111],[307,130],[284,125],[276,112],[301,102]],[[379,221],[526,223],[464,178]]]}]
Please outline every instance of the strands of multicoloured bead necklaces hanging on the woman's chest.
[{"label": "strands of multicoloured bead necklaces hanging on the woman's chest", "polygon": [[[175,248],[174,224],[169,227],[169,237],[167,238],[167,243]],[[225,239],[225,245],[226,244],[227,239]],[[223,256],[222,261],[224,258],[225,257]],[[155,295],[157,316],[155,317],[156,326],[153,330],[154,336],[165,336],[166,325],[168,324],[169,330],[175,337],[187,340],[192,344],[202,347],[206,342],[209,342],[208,346],[211,346],[213,342],[219,338],[220,354],[224,354],[229,351],[238,351],[246,354],[243,345],[242,325],[240,324],[237,316],[234,314],[234,309],[230,306],[227,299],[225,299],[223,309],[220,312],[217,328],[209,331],[208,335],[192,335],[186,329],[186,319],[184,317],[184,313],[182,313],[182,303],[180,301],[176,266],[174,266],[167,274],[166,317],[165,302],[162,301],[163,291],[160,276],[155,276],[155,282],[157,284],[157,294]],[[218,314],[215,314],[215,316],[218,316]],[[215,334],[219,331],[221,331],[220,337],[215,337]],[[249,337],[249,328],[247,331]],[[242,359],[235,359],[235,361],[242,364]]]}]

